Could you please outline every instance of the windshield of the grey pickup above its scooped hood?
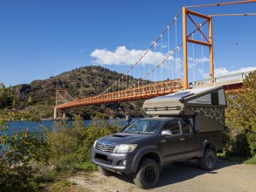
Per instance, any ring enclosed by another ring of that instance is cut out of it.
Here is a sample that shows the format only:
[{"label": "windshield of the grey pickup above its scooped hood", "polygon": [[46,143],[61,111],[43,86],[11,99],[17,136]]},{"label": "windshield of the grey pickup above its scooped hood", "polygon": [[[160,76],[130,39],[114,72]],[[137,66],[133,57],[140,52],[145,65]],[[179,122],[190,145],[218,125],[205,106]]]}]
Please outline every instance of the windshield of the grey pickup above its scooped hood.
[{"label": "windshield of the grey pickup above its scooped hood", "polygon": [[163,120],[137,120],[122,132],[134,134],[155,134]]}]

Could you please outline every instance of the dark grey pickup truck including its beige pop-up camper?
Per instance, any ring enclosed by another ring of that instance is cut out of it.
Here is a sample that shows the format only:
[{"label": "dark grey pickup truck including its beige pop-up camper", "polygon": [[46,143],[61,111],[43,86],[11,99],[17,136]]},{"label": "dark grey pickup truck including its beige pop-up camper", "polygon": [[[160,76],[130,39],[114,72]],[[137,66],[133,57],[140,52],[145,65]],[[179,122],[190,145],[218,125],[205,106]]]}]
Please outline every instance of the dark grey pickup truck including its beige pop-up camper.
[{"label": "dark grey pickup truck including its beige pop-up camper", "polygon": [[146,100],[143,109],[152,117],[95,141],[92,161],[103,175],[132,175],[142,189],[156,185],[166,163],[198,159],[211,170],[222,151],[225,106],[222,86]]}]

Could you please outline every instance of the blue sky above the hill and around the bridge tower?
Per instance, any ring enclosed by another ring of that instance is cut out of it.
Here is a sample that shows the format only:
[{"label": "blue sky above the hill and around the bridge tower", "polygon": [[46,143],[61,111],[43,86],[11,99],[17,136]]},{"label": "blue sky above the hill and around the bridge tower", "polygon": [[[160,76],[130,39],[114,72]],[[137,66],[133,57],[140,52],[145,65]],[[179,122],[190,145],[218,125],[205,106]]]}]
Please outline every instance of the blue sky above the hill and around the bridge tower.
[{"label": "blue sky above the hill and around the bridge tower", "polygon": [[[0,83],[6,86],[30,83],[86,65],[102,65],[117,72],[127,72],[183,6],[202,2],[0,0]],[[191,10],[206,15],[252,13],[256,12],[256,3]],[[181,26],[181,19],[177,19],[176,24]],[[178,26],[176,29],[179,38]],[[256,69],[255,31],[256,16],[213,18],[216,76]],[[151,56],[159,56],[163,45],[156,47]],[[194,75],[190,74],[190,79],[207,78],[207,49],[203,50],[203,55],[201,46],[189,47],[191,74],[194,72]],[[182,62],[181,55],[176,55],[174,59]],[[131,75],[142,77],[142,72],[147,73],[147,69],[154,68],[159,61],[149,60],[150,54],[148,61],[142,62],[141,68]],[[204,65],[204,72],[201,64]],[[166,71],[164,78],[170,73]],[[202,77],[197,77],[199,73]]]}]

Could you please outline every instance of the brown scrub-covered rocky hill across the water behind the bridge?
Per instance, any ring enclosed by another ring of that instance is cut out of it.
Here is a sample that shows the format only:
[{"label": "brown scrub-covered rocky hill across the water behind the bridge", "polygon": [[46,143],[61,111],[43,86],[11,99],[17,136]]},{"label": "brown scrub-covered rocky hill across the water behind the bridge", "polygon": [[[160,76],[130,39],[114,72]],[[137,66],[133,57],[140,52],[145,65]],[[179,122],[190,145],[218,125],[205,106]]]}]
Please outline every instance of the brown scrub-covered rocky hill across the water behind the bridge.
[{"label": "brown scrub-covered rocky hill across the water behind the bridge", "polygon": [[[52,118],[55,105],[56,89],[66,89],[74,99],[81,99],[102,93],[112,86],[123,74],[110,71],[101,66],[85,66],[70,72],[63,72],[50,79],[34,80],[31,84],[12,87],[11,111],[28,111],[38,115],[40,119]],[[132,77],[128,77],[133,79]],[[124,117],[126,113],[142,116],[142,101],[121,104],[84,106],[68,110],[68,116],[80,113],[88,119],[96,113],[106,117]]]}]

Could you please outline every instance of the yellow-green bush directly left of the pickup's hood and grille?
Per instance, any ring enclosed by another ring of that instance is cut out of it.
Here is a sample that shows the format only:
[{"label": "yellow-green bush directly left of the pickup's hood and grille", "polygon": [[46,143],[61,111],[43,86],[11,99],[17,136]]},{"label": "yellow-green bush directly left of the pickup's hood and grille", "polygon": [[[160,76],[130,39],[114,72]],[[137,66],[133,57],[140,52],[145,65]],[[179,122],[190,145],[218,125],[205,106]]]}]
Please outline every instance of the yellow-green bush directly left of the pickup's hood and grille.
[{"label": "yellow-green bush directly left of the pickup's hood and grille", "polygon": [[94,118],[89,127],[83,126],[80,116],[73,125],[58,121],[53,131],[47,131],[46,141],[50,151],[50,163],[59,170],[79,168],[91,159],[93,142],[99,137],[113,134],[119,129],[108,125],[105,120]]}]

